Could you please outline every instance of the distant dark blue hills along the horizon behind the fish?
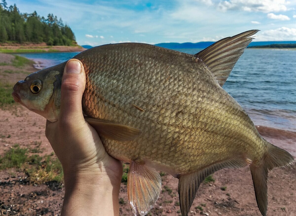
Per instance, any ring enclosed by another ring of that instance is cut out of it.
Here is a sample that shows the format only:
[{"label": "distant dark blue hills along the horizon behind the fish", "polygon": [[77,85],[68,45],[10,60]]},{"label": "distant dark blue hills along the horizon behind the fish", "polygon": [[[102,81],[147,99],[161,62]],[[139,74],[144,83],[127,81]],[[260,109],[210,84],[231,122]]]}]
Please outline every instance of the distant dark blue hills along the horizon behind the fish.
[{"label": "distant dark blue hills along the horizon behind the fish", "polygon": [[[205,49],[208,46],[212,45],[215,42],[212,41],[203,41],[198,43],[160,43],[155,44],[155,46],[158,47],[164,47],[168,49]],[[254,47],[254,46],[268,46],[271,44],[296,44],[296,41],[254,41],[249,44],[248,47]],[[89,49],[92,46],[89,45],[83,45],[83,48]]]}]

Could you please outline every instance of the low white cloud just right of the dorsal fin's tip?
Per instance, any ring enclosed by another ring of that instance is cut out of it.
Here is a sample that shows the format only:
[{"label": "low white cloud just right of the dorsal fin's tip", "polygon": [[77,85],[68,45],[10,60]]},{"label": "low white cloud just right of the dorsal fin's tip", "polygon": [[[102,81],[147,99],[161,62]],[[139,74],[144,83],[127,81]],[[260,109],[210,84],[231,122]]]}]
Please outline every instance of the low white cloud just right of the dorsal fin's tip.
[{"label": "low white cloud just right of the dorsal fin's tip", "polygon": [[258,33],[256,41],[295,41],[296,28],[281,27]]}]

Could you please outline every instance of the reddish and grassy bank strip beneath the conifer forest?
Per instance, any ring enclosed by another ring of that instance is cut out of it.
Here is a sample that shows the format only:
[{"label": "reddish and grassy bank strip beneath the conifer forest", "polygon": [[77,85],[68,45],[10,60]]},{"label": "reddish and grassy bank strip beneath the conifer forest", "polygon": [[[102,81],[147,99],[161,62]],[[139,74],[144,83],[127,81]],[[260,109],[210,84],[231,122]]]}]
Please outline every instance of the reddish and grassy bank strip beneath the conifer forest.
[{"label": "reddish and grassy bank strip beneath the conifer forest", "polygon": [[47,46],[46,44],[3,44],[0,53],[28,52],[81,52],[86,50],[81,46]]}]

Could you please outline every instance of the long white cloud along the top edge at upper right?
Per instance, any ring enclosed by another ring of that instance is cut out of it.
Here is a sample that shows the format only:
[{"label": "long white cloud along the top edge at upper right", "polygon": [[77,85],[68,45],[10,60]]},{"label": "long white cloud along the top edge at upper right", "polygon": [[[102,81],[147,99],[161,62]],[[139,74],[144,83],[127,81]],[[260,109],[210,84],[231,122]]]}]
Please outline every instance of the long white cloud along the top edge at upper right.
[{"label": "long white cloud along the top edge at upper right", "polygon": [[244,10],[259,11],[264,13],[287,11],[286,0],[226,0],[218,4],[222,11],[227,10]]}]

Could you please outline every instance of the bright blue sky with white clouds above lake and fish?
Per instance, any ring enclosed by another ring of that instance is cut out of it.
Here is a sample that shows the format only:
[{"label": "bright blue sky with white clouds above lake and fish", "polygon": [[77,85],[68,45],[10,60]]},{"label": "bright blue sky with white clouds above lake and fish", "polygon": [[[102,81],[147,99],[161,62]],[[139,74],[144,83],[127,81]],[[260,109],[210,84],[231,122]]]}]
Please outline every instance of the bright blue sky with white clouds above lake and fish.
[{"label": "bright blue sky with white clouds above lake and fish", "polygon": [[255,41],[296,41],[296,0],[7,0],[61,17],[80,45],[217,41],[260,29]]}]

